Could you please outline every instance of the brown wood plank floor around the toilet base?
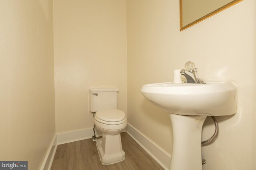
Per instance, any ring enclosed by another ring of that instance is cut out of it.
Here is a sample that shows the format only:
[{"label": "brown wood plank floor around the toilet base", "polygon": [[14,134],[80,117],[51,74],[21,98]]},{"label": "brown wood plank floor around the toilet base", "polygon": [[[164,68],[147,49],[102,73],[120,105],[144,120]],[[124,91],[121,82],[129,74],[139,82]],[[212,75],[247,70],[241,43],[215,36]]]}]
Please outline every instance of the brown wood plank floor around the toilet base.
[{"label": "brown wood plank floor around the toilet base", "polygon": [[163,170],[126,132],[121,133],[125,160],[102,165],[96,142],[85,139],[58,145],[51,170]]}]

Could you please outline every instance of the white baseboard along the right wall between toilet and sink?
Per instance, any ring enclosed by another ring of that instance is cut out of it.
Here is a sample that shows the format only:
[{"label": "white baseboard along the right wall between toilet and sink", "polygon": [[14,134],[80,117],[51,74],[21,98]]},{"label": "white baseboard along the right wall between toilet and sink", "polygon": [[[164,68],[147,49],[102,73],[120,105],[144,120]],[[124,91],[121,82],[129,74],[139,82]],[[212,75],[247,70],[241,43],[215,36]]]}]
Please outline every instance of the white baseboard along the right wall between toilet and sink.
[{"label": "white baseboard along the right wall between toilet and sink", "polygon": [[136,128],[128,123],[126,133],[130,135],[148,154],[158,162],[165,170],[169,170],[171,156],[162,150],[158,145],[140,133]]}]

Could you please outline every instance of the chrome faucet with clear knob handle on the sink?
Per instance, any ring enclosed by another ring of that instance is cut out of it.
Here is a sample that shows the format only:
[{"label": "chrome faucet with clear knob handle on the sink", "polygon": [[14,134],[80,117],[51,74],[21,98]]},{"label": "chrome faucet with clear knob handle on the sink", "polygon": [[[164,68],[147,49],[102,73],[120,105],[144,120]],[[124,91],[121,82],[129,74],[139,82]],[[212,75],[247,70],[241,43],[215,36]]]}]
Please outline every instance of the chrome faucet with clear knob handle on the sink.
[{"label": "chrome faucet with clear knob handle on the sink", "polygon": [[185,76],[187,79],[184,83],[200,83],[200,84],[206,83],[205,80],[203,80],[197,76],[197,68],[195,68],[194,63],[192,63],[191,61],[188,61],[185,64],[185,69],[182,69],[180,71],[180,74]]}]

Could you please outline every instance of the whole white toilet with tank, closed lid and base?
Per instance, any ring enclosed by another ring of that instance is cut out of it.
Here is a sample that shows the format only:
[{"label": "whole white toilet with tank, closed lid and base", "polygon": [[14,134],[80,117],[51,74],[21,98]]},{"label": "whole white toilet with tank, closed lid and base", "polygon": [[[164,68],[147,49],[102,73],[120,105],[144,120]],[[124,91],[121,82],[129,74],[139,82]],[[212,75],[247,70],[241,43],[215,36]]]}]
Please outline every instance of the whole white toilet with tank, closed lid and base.
[{"label": "whole white toilet with tank, closed lid and base", "polygon": [[102,164],[114,164],[125,159],[120,132],[127,125],[126,114],[117,109],[119,89],[90,89],[90,111],[102,138],[96,141]]}]

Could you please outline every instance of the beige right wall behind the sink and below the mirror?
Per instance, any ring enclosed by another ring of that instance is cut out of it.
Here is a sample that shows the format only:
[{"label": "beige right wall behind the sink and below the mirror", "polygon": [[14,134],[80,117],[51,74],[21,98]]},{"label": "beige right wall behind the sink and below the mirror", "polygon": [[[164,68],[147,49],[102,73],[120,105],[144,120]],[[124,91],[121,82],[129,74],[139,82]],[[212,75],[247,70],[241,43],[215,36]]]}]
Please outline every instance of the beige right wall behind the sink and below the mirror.
[{"label": "beige right wall behind the sink and below the mirror", "polygon": [[[255,170],[256,1],[244,0],[179,31],[179,1],[127,0],[128,123],[172,153],[168,114],[140,93],[143,84],[172,81],[193,61],[205,80],[238,87],[238,113],[217,117],[219,135],[202,149],[204,170]],[[214,125],[206,120],[202,138]]]}]

